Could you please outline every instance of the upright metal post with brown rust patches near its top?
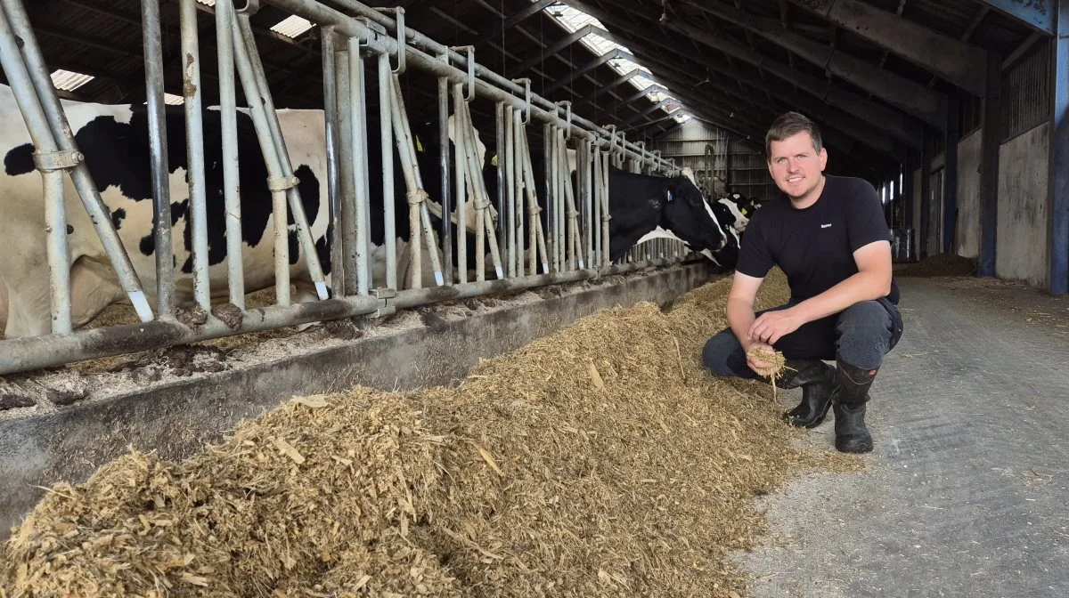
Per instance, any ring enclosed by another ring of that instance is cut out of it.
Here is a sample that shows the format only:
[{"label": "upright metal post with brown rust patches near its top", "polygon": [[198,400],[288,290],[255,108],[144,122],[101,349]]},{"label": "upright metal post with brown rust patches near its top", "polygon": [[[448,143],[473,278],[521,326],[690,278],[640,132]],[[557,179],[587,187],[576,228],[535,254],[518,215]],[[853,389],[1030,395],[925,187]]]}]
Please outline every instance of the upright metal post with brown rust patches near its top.
[{"label": "upright metal post with brown rust patches near its top", "polygon": [[212,309],[207,261],[207,206],[204,192],[204,106],[201,99],[200,40],[197,0],[182,0],[182,95],[186,112],[186,160],[189,184],[189,220],[192,226],[193,299],[205,312]]}]

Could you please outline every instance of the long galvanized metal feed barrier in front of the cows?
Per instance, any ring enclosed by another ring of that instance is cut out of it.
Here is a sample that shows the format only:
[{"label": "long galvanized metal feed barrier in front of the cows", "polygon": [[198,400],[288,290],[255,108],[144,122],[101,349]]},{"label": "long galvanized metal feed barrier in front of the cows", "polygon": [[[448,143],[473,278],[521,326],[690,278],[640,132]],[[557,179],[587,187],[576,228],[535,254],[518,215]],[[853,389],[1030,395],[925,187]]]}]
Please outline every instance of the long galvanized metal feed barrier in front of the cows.
[{"label": "long galvanized metal feed barrier in front of the cows", "polygon": [[[204,98],[200,91],[201,57],[196,27],[198,7],[196,0],[181,0],[193,309],[204,316],[203,324],[190,327],[176,318],[174,300],[159,0],[141,2],[156,255],[156,288],[150,289],[149,296],[90,176],[84,156],[75,143],[21,0],[0,0],[3,9],[0,12],[0,62],[30,130],[35,164],[43,177],[52,322],[51,334],[0,341],[0,374],[321,320],[379,317],[398,309],[592,279],[678,263],[687,257],[681,243],[655,239],[631,248],[618,264],[610,264],[608,259],[609,166],[632,172],[676,174],[675,162],[661,158],[659,152],[649,152],[641,143],[626,141],[623,132],[615,127],[599,127],[573,114],[569,103],[554,104],[531,93],[529,80],[508,80],[479,65],[470,46],[446,47],[406,28],[403,9],[376,10],[353,0],[335,0],[335,4],[351,13],[343,14],[314,0],[265,0],[264,3],[307,18],[321,28],[326,139],[323,150],[332,224],[329,293],[252,36],[249,17],[259,10],[260,2],[249,0],[242,10],[236,10],[232,0],[217,0],[214,11],[228,292],[229,302],[242,316],[238,325],[228,326],[212,315],[202,122]],[[365,151],[368,138],[365,83],[369,62],[374,63],[378,82],[378,150],[384,158],[381,173],[369,172]],[[439,174],[441,189],[452,189],[452,196],[450,193],[441,198],[429,196],[421,180],[399,81],[399,75],[410,67],[430,72],[438,78]],[[267,167],[272,193],[276,304],[258,310],[245,308],[237,84],[242,85],[245,97],[252,98],[248,114]],[[445,135],[450,117],[450,96],[455,125],[452,160],[450,140]],[[501,211],[496,224],[468,110],[468,103],[476,96],[496,103],[496,199]],[[533,121],[543,124],[545,140],[546,168],[539,173],[531,167],[527,140],[527,128]],[[575,151],[577,192],[573,191],[570,178],[570,145]],[[407,215],[394,214],[391,202],[394,150],[405,184]],[[71,259],[64,234],[67,229],[65,175],[71,176],[140,324],[73,331]],[[450,176],[454,180],[451,182]],[[544,177],[547,190],[547,230],[542,227],[541,209],[534,194],[536,177],[539,176]],[[372,215],[370,210],[372,184],[379,184],[383,189],[384,213],[379,215]],[[451,205],[454,201],[455,209]],[[469,209],[475,211],[470,216]],[[439,231],[433,229],[431,215],[440,219]],[[286,221],[291,216],[315,287],[316,301],[293,303],[290,297]],[[396,219],[404,216],[408,218],[410,231],[408,247],[415,250],[408,252],[412,276],[399,285],[394,231]],[[381,281],[372,280],[369,267],[373,217],[383,219],[386,231],[386,268]],[[465,235],[453,239],[450,222],[456,223],[459,231],[475,235],[475,281],[468,281]],[[436,233],[444,249],[440,261],[435,249],[438,247]],[[454,242],[455,265],[449,250]],[[421,288],[423,264],[418,250],[421,247],[427,248],[434,272],[435,285],[430,288]],[[487,251],[490,268],[484,264]],[[454,267],[456,280],[452,276]],[[493,276],[494,280],[486,280],[487,276]],[[151,298],[155,299],[155,310]]]}]

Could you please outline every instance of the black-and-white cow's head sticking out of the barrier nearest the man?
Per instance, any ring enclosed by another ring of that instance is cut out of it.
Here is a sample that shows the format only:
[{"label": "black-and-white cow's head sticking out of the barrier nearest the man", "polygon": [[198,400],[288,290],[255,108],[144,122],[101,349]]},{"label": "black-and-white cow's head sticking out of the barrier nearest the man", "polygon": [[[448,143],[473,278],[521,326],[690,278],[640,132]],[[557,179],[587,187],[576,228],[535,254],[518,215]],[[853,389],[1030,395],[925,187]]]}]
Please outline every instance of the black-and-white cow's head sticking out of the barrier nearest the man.
[{"label": "black-and-white cow's head sticking out of the barrier nearest the man", "polygon": [[698,187],[686,176],[673,176],[667,180],[661,226],[685,242],[692,251],[722,249],[727,237]]}]

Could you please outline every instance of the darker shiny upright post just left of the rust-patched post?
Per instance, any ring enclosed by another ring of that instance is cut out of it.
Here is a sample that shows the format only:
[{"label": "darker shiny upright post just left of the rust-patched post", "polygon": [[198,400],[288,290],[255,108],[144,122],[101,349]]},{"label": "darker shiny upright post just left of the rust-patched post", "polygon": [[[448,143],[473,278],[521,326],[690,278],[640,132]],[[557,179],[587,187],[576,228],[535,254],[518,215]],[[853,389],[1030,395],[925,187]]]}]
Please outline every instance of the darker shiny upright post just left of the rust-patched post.
[{"label": "darker shiny upright post just left of the rust-patched post", "polygon": [[156,312],[174,317],[174,253],[171,250],[171,194],[164,111],[164,50],[160,45],[159,0],[141,0],[144,45],[144,92],[148,104],[152,174],[153,237],[156,247]]}]

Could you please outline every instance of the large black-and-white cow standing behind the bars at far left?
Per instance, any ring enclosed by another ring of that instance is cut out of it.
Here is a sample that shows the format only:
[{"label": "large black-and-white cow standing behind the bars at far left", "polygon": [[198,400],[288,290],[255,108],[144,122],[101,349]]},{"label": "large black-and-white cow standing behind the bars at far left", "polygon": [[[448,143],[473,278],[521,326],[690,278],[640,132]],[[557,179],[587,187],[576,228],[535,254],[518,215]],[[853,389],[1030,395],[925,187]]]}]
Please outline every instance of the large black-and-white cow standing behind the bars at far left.
[{"label": "large black-and-white cow standing behind the bars at far left", "polygon": [[[108,207],[120,239],[129,254],[150,302],[155,302],[156,271],[153,232],[152,183],[146,109],[143,105],[100,105],[63,100],[64,111],[75,132],[79,150],[86,156],[93,180]],[[6,255],[0,259],[0,325],[5,320],[7,337],[50,332],[49,279],[47,273],[44,201],[42,179],[33,163],[33,146],[11,88],[0,86],[0,235],[7,240]],[[279,110],[278,120],[285,139],[308,225],[325,274],[330,272],[328,198],[324,117],[320,110]],[[174,292],[177,304],[193,300],[189,188],[186,183],[187,152],[184,109],[168,106],[166,114],[169,189],[171,199],[172,246],[174,254]],[[275,284],[274,216],[264,163],[251,119],[237,114],[238,160],[242,198],[243,268],[246,292]],[[368,167],[382,172],[378,124],[369,112]],[[213,298],[224,298],[227,284],[227,240],[222,192],[222,150],[220,113],[204,112],[205,190],[210,284]],[[394,168],[397,213],[398,280],[407,281],[404,268],[410,249],[407,201],[400,166]],[[425,180],[436,176],[423,173]],[[66,178],[67,242],[71,264],[72,318],[75,327],[89,322],[111,303],[126,299],[89,220],[86,209]],[[372,180],[375,177],[372,176]],[[369,265],[372,286],[385,285],[385,226],[382,186],[371,188],[372,251]],[[468,214],[472,214],[472,209]],[[297,287],[297,301],[315,297],[304,251],[297,241],[292,216],[290,224],[291,281]],[[435,229],[438,226],[436,225]],[[421,248],[422,284],[434,284],[425,243]],[[440,251],[439,251],[440,253]],[[4,302],[6,304],[4,304]],[[5,308],[5,309],[4,309]]]}]

